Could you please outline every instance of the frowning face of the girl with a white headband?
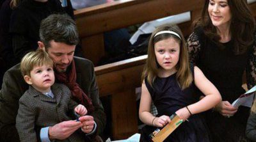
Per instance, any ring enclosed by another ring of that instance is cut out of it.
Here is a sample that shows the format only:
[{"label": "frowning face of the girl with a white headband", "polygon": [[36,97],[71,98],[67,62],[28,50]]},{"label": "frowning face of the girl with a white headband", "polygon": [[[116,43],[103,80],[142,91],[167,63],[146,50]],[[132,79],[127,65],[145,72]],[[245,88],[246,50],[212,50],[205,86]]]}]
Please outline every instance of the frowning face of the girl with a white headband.
[{"label": "frowning face of the girl with a white headband", "polygon": [[154,44],[158,64],[167,72],[175,72],[179,61],[180,44],[175,38],[167,38]]}]

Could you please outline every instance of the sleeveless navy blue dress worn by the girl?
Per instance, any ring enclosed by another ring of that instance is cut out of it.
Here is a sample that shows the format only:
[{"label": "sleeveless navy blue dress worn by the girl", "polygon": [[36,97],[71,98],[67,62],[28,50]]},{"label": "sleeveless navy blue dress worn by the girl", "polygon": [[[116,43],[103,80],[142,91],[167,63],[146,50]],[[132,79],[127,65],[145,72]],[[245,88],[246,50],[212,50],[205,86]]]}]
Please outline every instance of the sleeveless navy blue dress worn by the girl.
[{"label": "sleeveless navy blue dress worn by the girl", "polygon": [[[185,90],[181,90],[176,81],[176,74],[169,77],[157,77],[153,88],[148,84],[147,78],[145,84],[157,108],[157,116],[171,116],[182,107],[193,104],[199,100],[199,95],[195,95],[195,84]],[[209,134],[204,120],[200,114],[193,114],[188,118],[189,122],[183,122],[165,141],[209,141]],[[142,129],[141,141],[150,141],[148,137],[156,127],[146,125]]]}]

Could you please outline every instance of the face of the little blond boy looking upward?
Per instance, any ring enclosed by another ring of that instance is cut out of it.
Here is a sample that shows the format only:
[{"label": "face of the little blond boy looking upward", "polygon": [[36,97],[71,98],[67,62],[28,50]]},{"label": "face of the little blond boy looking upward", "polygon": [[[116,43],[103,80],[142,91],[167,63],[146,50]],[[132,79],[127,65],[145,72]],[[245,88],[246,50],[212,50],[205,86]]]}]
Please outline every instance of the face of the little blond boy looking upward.
[{"label": "face of the little blond boy looking upward", "polygon": [[50,91],[51,86],[54,83],[54,71],[49,65],[34,67],[30,72],[30,77],[25,75],[24,79],[28,84],[31,84],[33,88],[45,93]]}]

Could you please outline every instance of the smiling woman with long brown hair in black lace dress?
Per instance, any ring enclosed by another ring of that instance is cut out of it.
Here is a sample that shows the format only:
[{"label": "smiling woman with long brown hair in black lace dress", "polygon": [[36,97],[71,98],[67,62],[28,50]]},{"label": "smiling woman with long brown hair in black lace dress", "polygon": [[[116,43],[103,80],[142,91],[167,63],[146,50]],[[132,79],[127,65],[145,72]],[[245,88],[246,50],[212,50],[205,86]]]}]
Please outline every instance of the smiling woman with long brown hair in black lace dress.
[{"label": "smiling woman with long brown hair in black lace dress", "polygon": [[213,141],[242,141],[249,107],[231,104],[244,93],[243,73],[256,82],[255,21],[245,0],[205,0],[188,38],[190,61],[218,88],[222,102],[205,114]]}]

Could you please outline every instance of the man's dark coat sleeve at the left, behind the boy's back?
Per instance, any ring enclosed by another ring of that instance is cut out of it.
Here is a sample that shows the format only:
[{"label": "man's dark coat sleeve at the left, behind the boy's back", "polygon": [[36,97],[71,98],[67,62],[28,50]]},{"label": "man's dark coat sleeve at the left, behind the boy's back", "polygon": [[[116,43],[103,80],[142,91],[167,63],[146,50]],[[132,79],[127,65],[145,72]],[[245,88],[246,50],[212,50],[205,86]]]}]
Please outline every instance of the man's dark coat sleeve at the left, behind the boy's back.
[{"label": "man's dark coat sleeve at the left, behind the boy's back", "polygon": [[19,141],[15,120],[19,99],[25,90],[28,90],[28,84],[25,83],[19,66],[4,74],[0,91],[0,141]]}]

